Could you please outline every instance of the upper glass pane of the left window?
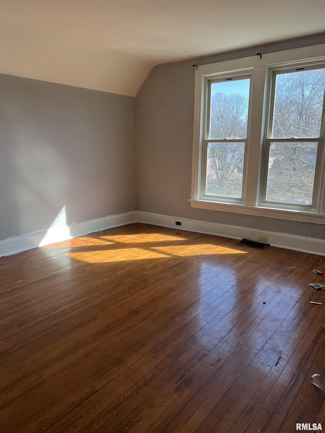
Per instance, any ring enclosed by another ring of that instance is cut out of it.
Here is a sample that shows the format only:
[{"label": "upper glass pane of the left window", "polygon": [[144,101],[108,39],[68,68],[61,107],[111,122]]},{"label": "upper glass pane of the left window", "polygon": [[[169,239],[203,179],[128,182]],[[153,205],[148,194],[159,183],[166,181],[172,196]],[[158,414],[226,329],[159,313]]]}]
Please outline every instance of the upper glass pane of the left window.
[{"label": "upper glass pane of the left window", "polygon": [[211,83],[210,139],[247,137],[250,79]]}]

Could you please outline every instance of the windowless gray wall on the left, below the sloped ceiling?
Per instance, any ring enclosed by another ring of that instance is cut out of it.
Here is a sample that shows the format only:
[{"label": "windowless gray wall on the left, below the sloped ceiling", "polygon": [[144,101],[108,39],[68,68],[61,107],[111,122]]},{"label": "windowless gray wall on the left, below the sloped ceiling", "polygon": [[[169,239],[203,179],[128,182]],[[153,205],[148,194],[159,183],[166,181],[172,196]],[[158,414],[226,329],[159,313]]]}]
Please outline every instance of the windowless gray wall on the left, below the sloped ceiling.
[{"label": "windowless gray wall on the left, below the sloped ceiling", "polygon": [[0,240],[136,209],[135,97],[0,75]]}]

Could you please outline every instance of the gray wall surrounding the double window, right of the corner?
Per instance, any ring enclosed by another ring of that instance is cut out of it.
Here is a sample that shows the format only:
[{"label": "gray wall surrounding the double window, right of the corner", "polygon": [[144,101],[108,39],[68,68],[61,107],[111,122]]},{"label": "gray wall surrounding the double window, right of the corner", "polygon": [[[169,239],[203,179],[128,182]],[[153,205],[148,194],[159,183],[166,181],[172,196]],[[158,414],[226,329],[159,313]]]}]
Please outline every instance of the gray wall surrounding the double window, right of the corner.
[{"label": "gray wall surrounding the double window, right of the corner", "polygon": [[325,226],[190,207],[194,70],[256,53],[324,43],[324,35],[156,66],[137,95],[137,203],[144,212],[173,215],[325,239]]}]

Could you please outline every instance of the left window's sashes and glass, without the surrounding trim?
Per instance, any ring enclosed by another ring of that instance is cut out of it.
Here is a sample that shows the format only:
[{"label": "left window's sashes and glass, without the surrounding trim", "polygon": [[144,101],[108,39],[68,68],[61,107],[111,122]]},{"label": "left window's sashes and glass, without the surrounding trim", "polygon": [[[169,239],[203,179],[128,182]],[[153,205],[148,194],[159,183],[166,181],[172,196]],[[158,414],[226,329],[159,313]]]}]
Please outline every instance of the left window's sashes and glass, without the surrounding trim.
[{"label": "left window's sashes and glass, without the surrounding trim", "polygon": [[250,77],[209,82],[203,195],[243,197]]}]

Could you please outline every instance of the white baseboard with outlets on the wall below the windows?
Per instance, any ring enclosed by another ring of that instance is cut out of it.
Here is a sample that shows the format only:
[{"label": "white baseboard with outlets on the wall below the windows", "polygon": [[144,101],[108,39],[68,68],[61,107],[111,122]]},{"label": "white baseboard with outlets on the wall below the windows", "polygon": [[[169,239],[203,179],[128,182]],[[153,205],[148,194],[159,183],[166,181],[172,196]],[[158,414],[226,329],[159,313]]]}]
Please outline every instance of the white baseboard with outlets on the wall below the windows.
[{"label": "white baseboard with outlets on the wall below the windows", "polygon": [[[188,218],[159,215],[150,212],[138,212],[138,221],[146,224],[176,228],[187,231],[197,231],[208,235],[223,236],[233,239],[250,239],[257,241],[258,235],[267,236],[267,243],[274,247],[325,256],[325,241],[322,239],[306,238],[304,236],[287,235],[267,230],[257,230],[235,225],[218,224],[216,222],[199,221]],[[180,221],[181,226],[175,225]]]}]

